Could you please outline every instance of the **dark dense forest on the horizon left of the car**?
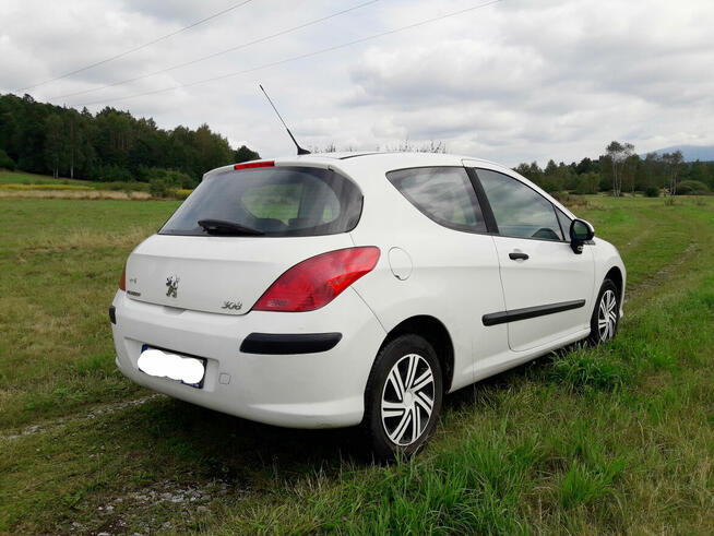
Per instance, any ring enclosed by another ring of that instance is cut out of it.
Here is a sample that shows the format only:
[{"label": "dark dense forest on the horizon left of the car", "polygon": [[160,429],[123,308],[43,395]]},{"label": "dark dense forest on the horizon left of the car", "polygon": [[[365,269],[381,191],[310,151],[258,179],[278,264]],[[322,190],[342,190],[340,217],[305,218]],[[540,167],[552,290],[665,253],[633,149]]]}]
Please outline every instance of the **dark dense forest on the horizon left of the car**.
[{"label": "dark dense forest on the horizon left of the car", "polygon": [[0,95],[0,168],[193,188],[209,169],[254,158],[258,153],[245,145],[233,148],[207,124],[164,130],[152,118],[110,107],[93,115],[29,95]]}]

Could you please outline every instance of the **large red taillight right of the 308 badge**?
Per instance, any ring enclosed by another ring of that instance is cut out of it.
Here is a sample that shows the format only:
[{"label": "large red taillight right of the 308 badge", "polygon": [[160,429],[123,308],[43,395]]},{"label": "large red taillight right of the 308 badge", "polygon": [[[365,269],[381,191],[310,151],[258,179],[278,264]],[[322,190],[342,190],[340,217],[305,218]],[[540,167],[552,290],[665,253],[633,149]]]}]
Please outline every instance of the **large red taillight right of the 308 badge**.
[{"label": "large red taillight right of the 308 badge", "polygon": [[253,306],[255,311],[313,311],[371,272],[379,248],[330,251],[302,261],[281,275]]}]

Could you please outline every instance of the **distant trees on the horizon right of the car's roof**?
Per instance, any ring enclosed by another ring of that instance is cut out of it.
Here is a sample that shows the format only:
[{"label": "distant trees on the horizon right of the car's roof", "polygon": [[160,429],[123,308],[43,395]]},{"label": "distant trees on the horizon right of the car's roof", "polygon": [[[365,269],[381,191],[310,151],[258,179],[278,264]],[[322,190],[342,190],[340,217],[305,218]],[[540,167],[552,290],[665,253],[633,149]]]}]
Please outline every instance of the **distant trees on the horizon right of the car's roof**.
[{"label": "distant trees on the horizon right of the car's roof", "polygon": [[514,170],[548,192],[607,191],[615,196],[643,192],[657,196],[662,192],[676,195],[714,191],[714,162],[686,163],[680,151],[641,157],[633,144],[618,141],[609,143],[595,159],[585,157],[571,164],[551,159],[545,169],[536,162],[524,163]]}]

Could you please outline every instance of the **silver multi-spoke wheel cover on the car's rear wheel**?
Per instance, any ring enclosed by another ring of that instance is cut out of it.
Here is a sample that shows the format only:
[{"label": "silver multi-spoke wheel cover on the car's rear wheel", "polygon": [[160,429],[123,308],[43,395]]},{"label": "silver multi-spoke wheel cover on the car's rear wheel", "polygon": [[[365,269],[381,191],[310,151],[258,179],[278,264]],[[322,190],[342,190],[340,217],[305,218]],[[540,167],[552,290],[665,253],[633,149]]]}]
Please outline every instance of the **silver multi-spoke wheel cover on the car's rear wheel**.
[{"label": "silver multi-spoke wheel cover on the car's rear wheel", "polygon": [[414,443],[429,424],[433,410],[433,372],[427,360],[408,354],[390,370],[382,390],[382,426],[400,446]]}]

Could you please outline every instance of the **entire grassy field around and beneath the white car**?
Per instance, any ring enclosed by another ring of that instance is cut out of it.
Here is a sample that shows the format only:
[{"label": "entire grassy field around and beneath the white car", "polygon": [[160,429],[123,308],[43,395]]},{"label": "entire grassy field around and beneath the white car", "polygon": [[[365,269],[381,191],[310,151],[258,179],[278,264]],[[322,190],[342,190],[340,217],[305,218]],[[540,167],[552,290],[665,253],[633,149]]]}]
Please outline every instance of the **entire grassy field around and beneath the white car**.
[{"label": "entire grassy field around and beneath the white car", "polygon": [[0,199],[0,532],[714,533],[714,200],[588,198],[610,345],[447,397],[430,448],[284,430],[124,380],[107,307],[176,201]]}]

